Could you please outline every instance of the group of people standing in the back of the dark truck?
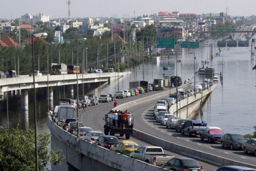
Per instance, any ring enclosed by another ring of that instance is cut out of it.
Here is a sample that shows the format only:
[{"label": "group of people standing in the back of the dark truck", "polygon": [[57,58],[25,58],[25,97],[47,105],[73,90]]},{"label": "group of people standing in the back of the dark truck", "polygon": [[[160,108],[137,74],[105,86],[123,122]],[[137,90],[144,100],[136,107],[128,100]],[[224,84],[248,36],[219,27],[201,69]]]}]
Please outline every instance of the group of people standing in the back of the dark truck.
[{"label": "group of people standing in the back of the dark truck", "polygon": [[132,126],[132,114],[130,111],[110,110],[107,120],[117,128],[130,128]]}]

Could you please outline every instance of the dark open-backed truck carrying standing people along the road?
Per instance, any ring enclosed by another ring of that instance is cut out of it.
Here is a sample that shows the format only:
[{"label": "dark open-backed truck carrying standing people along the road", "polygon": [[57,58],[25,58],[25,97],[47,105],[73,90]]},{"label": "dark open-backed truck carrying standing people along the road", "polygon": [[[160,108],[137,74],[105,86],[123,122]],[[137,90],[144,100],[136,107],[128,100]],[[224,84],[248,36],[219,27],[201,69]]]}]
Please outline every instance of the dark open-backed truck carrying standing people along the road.
[{"label": "dark open-backed truck carrying standing people along the road", "polygon": [[[122,124],[118,123],[115,125],[114,120],[108,117],[108,114],[105,114],[105,125],[104,125],[104,134],[105,135],[115,135],[119,134],[120,137],[125,135],[126,139],[130,138],[130,135],[133,133],[133,124],[134,124],[134,117],[133,115],[128,115],[128,123],[125,125],[125,129],[122,128]],[[121,116],[122,117],[122,116]],[[118,121],[119,122],[119,121]]]}]

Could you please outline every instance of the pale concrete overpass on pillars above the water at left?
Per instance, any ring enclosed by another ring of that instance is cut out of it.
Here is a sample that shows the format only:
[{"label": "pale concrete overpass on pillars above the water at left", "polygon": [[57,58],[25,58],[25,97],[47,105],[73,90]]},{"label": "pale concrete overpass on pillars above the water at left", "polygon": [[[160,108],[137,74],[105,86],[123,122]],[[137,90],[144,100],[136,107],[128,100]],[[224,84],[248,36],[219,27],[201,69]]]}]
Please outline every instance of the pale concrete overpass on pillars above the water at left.
[{"label": "pale concrete overpass on pillars above the water at left", "polygon": [[[93,74],[62,74],[62,75],[43,75],[35,77],[35,88],[46,88],[49,86],[49,100],[53,100],[54,86],[67,86],[68,91],[73,91],[73,85],[86,84],[89,87],[91,83],[105,83],[111,81],[111,78],[122,77],[127,73],[93,73]],[[4,92],[13,91],[21,96],[21,108],[28,109],[28,90],[32,89],[33,77],[21,76],[15,78],[3,78],[0,80],[0,95]]]}]

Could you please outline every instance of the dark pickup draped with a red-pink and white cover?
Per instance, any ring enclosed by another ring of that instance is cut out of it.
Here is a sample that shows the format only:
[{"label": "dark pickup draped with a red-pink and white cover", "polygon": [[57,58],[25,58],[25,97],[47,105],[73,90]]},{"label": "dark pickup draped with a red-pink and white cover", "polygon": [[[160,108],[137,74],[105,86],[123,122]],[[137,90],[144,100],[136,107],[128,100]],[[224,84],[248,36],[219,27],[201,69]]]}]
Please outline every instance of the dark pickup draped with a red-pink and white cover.
[{"label": "dark pickup draped with a red-pink and white cover", "polygon": [[204,131],[199,131],[200,140],[207,139],[209,143],[212,141],[221,141],[221,137],[224,135],[219,127],[207,126]]}]

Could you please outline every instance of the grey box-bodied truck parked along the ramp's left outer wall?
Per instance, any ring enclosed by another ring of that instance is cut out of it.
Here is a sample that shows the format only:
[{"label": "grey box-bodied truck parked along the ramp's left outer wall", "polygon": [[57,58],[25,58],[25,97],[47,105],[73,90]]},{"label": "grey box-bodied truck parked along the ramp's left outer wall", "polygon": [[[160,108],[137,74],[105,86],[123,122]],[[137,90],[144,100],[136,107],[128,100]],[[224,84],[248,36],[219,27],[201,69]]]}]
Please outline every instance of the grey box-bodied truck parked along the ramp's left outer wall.
[{"label": "grey box-bodied truck parked along the ramp's left outer wall", "polygon": [[64,118],[73,118],[74,108],[69,105],[59,105],[57,115],[54,118],[55,123],[60,126]]}]

